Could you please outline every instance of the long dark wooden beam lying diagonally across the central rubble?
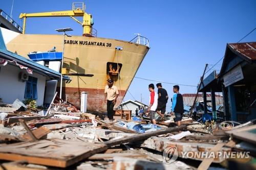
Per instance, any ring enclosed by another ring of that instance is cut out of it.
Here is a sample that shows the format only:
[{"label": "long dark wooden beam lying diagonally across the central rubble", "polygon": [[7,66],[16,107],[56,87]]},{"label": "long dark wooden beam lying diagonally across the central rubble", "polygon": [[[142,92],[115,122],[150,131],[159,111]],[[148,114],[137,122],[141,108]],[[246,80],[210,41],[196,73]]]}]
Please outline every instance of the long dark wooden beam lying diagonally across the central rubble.
[{"label": "long dark wooden beam lying diagonally across the central rubble", "polygon": [[184,130],[184,129],[186,129],[186,126],[166,128],[166,129],[161,129],[161,130],[157,130],[157,131],[153,131],[153,132],[146,132],[146,133],[143,133],[143,134],[136,134],[136,135],[124,137],[124,138],[121,138],[121,139],[114,139],[114,140],[105,141],[104,144],[108,145],[108,147],[112,147],[114,145],[119,145],[119,144],[122,144],[122,143],[144,140],[144,139],[150,138],[152,136],[162,135],[162,134],[171,133],[171,132],[178,132],[178,131]]}]

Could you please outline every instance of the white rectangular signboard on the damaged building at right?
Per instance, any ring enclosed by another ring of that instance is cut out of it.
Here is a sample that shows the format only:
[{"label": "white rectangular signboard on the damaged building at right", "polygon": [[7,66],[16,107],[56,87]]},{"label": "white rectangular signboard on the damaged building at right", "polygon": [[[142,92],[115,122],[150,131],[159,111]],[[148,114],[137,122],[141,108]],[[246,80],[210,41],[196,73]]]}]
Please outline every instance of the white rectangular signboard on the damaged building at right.
[{"label": "white rectangular signboard on the damaged building at right", "polygon": [[238,65],[236,67],[234,67],[233,69],[231,69],[230,71],[228,71],[224,76],[223,76],[223,80],[224,80],[224,85],[225,87],[236,83],[240,80],[244,79],[244,75],[243,75],[243,71],[241,68],[241,65]]}]

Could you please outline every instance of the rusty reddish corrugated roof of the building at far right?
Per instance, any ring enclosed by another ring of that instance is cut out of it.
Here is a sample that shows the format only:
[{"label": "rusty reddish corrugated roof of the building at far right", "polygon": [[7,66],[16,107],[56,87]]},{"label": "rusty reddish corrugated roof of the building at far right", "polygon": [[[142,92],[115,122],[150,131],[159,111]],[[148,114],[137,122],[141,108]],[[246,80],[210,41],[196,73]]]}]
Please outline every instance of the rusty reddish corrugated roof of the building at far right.
[{"label": "rusty reddish corrugated roof of the building at far right", "polygon": [[232,50],[242,54],[250,60],[256,60],[256,42],[230,43]]}]

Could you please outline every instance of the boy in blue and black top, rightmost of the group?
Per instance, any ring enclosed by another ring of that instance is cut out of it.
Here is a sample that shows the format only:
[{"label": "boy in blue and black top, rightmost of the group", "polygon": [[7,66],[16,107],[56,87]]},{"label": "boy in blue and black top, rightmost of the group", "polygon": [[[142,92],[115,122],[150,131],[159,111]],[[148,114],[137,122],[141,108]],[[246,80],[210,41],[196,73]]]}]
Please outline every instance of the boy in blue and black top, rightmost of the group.
[{"label": "boy in blue and black top, rightmost of the group", "polygon": [[182,114],[184,112],[183,98],[182,98],[182,95],[179,93],[180,87],[178,85],[175,85],[173,90],[174,90],[174,97],[173,97],[172,111],[175,114],[174,121],[178,122],[178,126],[180,126]]}]

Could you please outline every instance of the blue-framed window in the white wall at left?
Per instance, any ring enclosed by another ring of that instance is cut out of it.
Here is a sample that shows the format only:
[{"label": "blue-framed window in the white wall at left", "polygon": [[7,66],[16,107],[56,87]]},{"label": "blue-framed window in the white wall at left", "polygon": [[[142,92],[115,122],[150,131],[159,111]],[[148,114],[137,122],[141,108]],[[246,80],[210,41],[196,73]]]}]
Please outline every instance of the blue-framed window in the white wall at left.
[{"label": "blue-framed window in the white wall at left", "polygon": [[37,99],[37,78],[29,76],[29,80],[26,82],[25,99]]}]

